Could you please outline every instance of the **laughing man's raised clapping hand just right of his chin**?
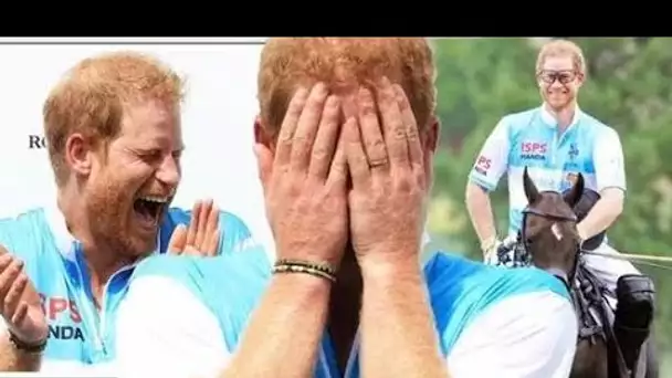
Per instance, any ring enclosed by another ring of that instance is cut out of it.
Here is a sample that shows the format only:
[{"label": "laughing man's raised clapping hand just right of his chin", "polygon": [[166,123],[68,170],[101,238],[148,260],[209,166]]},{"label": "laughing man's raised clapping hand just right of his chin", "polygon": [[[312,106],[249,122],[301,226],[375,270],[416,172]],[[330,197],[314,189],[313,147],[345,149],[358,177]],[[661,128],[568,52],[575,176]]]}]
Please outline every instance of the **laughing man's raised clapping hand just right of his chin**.
[{"label": "laughing man's raised clapping hand just right of his chin", "polygon": [[219,209],[211,199],[196,201],[189,228],[179,224],[172,231],[168,253],[214,256],[219,251]]}]

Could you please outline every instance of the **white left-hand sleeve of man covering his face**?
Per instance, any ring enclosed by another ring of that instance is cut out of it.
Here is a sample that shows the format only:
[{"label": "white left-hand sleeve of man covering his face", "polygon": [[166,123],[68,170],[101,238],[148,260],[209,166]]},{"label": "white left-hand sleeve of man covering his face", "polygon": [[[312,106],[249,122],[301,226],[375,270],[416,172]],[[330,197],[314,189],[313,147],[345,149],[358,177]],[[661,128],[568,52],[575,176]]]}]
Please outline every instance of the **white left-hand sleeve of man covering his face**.
[{"label": "white left-hand sleeve of man covering his face", "polygon": [[169,277],[132,283],[116,332],[122,377],[217,377],[231,358],[217,317]]}]

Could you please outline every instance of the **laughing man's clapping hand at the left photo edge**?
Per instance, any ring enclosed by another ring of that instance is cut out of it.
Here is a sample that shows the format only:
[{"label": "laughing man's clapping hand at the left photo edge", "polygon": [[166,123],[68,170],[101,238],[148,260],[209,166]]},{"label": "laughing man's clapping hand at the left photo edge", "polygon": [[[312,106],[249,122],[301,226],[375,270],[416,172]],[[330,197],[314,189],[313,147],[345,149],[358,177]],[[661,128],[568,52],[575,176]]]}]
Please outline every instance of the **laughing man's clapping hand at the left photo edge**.
[{"label": "laughing man's clapping hand at the left photo edge", "polygon": [[23,272],[23,262],[0,245],[0,314],[8,329],[22,343],[46,340],[49,326],[40,296]]}]

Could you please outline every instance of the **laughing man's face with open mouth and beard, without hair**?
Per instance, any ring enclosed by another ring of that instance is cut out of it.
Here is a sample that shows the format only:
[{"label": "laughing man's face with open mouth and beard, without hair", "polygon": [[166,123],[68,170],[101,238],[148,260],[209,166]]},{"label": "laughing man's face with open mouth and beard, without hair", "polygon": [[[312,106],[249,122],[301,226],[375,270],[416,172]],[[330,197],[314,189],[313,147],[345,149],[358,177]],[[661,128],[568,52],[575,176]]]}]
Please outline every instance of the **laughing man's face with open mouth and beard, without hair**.
[{"label": "laughing man's face with open mouth and beard, without hair", "polygon": [[92,233],[132,256],[154,251],[181,150],[179,109],[159,101],[128,106],[118,137],[93,154],[84,190]]}]

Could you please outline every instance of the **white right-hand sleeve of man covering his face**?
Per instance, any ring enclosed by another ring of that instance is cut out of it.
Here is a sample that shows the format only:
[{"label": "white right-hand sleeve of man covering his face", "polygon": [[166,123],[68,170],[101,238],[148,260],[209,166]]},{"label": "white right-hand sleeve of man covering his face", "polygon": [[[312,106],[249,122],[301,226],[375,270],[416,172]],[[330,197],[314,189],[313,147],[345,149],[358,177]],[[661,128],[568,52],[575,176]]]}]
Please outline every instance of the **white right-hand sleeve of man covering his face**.
[{"label": "white right-hand sleeve of man covering his face", "polygon": [[517,295],[464,329],[448,368],[453,378],[567,378],[577,335],[568,300],[552,292]]}]

